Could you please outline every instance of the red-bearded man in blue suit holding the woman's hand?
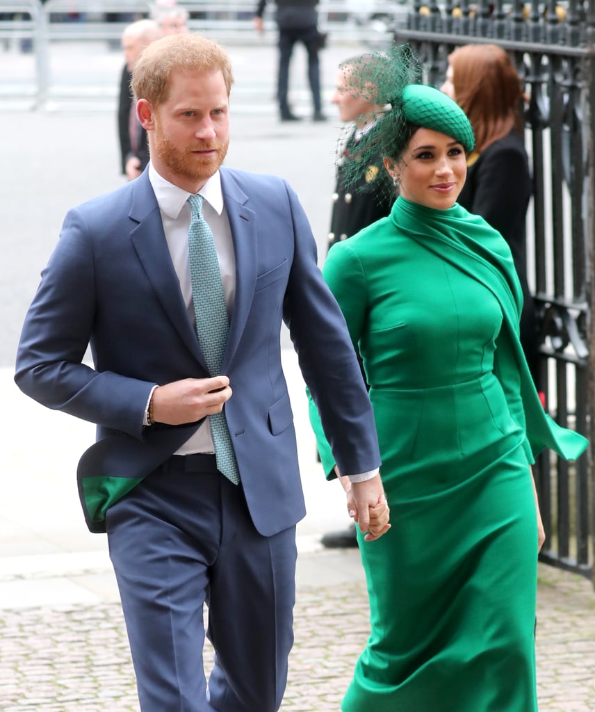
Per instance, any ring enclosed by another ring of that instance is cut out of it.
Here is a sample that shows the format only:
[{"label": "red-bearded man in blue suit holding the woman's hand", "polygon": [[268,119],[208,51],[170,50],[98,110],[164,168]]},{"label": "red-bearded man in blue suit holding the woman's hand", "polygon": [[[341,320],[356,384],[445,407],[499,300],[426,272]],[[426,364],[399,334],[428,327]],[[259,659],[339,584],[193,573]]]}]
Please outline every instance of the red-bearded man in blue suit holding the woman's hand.
[{"label": "red-bearded man in blue suit holding the woman's hand", "polygon": [[369,545],[389,528],[372,409],[305,213],[283,179],[221,166],[232,81],[206,38],[143,51],[149,166],[68,212],[17,357],[24,392],[98,424],[80,500],[107,531],[142,712],[275,712],[283,698],[305,508],[282,320],[347,506]]}]

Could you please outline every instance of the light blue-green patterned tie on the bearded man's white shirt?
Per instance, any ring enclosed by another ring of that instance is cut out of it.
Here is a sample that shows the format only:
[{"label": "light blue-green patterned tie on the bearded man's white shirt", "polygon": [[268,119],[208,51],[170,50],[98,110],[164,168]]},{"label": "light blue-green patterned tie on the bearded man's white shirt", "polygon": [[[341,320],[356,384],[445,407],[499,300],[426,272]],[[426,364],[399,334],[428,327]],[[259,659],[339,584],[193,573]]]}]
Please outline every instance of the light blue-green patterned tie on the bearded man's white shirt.
[{"label": "light blue-green patterned tie on the bearded man's white shirt", "polygon": [[[211,376],[221,373],[223,354],[227,345],[229,322],[221,271],[213,241],[213,233],[202,214],[202,196],[188,199],[192,218],[188,232],[190,280],[196,317],[196,333]],[[240,476],[233,452],[227,421],[223,412],[209,415],[215,445],[217,469],[233,484]]]}]

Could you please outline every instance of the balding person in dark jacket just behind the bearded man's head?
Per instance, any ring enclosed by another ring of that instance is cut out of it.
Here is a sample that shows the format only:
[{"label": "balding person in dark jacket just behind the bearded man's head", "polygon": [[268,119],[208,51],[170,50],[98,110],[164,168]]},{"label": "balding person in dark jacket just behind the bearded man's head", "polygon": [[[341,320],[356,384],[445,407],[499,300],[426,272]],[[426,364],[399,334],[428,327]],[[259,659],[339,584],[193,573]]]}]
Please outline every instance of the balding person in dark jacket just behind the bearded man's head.
[{"label": "balding person in dark jacket just behind the bearded man's head", "polygon": [[149,162],[147,132],[137,118],[136,103],[132,98],[130,80],[132,70],[143,49],[162,36],[156,21],[142,19],[128,25],[122,33],[122,51],[125,65],[120,78],[120,95],[117,110],[118,137],[122,173],[133,180],[144,171]]}]

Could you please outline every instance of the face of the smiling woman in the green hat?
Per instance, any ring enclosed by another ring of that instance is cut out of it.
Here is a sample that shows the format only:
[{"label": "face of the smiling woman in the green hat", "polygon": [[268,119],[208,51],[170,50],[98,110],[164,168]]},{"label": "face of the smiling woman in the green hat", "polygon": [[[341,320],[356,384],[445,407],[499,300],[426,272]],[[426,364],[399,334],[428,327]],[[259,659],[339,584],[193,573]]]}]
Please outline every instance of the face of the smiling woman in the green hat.
[{"label": "face of the smiling woman in the green hat", "polygon": [[463,145],[425,128],[414,133],[398,163],[385,158],[384,165],[399,182],[404,198],[437,210],[456,203],[467,177]]}]

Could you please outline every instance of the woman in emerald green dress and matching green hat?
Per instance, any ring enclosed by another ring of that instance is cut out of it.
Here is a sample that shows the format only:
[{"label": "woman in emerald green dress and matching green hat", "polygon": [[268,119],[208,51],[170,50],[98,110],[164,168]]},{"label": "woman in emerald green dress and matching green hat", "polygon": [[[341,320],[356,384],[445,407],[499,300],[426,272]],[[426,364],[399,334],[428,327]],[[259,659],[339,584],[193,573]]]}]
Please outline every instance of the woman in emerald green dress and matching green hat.
[{"label": "woman in emerald green dress and matching green hat", "polygon": [[535,712],[544,535],[530,465],[546,446],[574,459],[586,440],[539,402],[510,248],[456,203],[467,117],[420,84],[387,103],[369,140],[399,198],[323,268],[364,362],[391,507],[381,540],[358,533],[371,634],[342,710]]}]

